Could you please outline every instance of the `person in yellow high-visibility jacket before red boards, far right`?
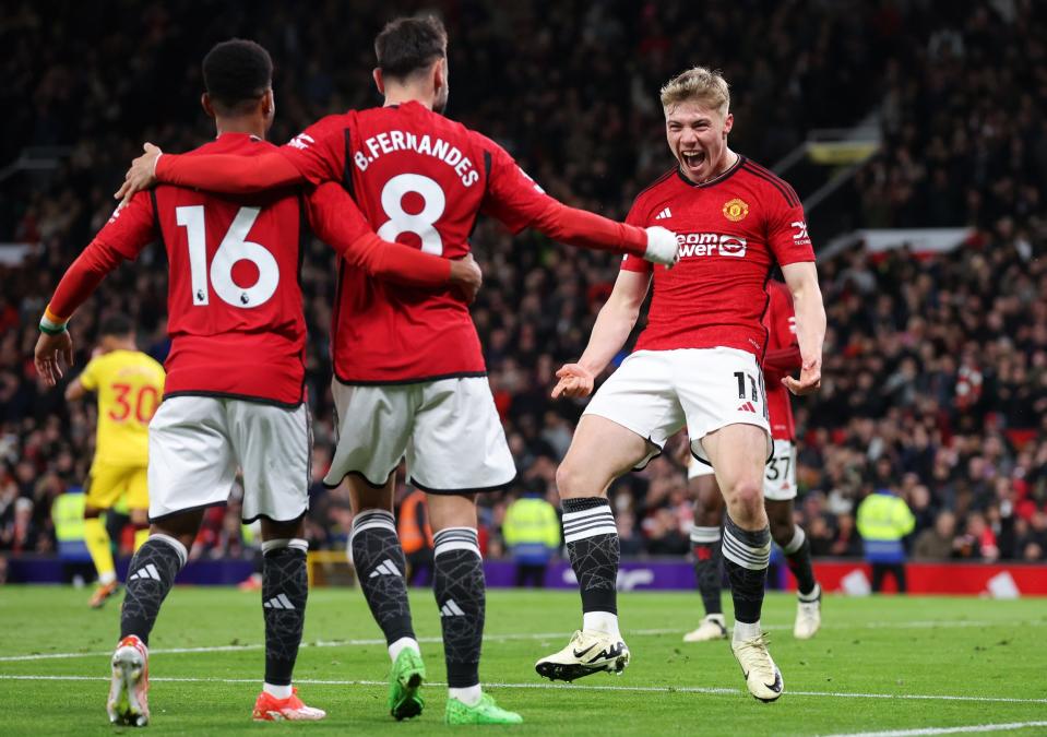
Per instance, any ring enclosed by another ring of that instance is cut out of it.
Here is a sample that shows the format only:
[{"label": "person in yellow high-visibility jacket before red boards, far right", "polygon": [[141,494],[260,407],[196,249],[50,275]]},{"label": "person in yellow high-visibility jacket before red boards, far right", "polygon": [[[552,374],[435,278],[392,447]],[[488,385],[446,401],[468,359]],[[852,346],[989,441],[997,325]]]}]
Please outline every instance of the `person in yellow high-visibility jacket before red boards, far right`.
[{"label": "person in yellow high-visibility jacket before red boards, far right", "polygon": [[872,563],[872,591],[883,589],[883,576],[894,576],[900,594],[905,593],[904,537],[913,532],[916,518],[905,500],[889,486],[881,487],[858,504],[858,534],[865,543],[865,558]]}]

